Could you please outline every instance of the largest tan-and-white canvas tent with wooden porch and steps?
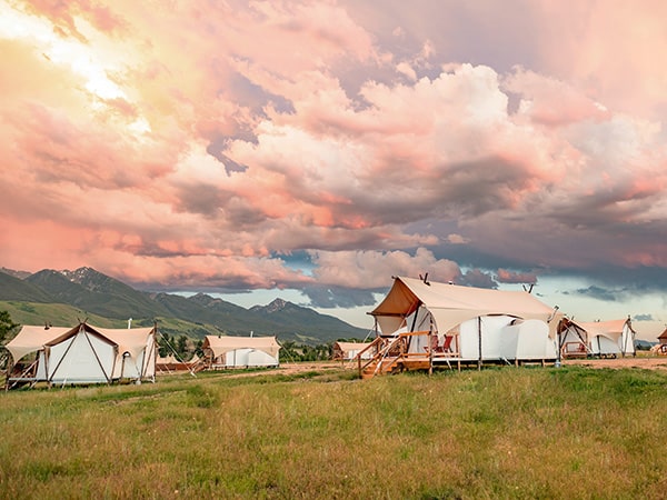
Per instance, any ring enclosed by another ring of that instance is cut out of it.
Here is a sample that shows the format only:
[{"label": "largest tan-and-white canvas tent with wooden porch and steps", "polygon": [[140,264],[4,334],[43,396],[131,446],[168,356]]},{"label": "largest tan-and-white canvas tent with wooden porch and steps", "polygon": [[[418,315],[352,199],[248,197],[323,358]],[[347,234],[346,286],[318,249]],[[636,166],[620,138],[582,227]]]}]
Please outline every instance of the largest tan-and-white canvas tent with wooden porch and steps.
[{"label": "largest tan-and-white canvas tent with wooden porch and steps", "polygon": [[557,358],[563,318],[526,291],[504,291],[398,277],[370,314],[374,359],[364,376],[456,363],[546,362]]}]

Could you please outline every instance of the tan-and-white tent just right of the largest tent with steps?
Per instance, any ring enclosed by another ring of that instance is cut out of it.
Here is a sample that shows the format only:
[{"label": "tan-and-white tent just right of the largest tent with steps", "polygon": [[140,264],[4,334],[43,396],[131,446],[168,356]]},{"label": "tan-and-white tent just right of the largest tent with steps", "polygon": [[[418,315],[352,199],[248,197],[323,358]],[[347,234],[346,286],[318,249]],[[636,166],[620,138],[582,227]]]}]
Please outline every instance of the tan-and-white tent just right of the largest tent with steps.
[{"label": "tan-and-white tent just right of the largest tent with steps", "polygon": [[565,318],[559,327],[560,352],[564,358],[635,356],[635,336],[629,317],[593,322]]}]

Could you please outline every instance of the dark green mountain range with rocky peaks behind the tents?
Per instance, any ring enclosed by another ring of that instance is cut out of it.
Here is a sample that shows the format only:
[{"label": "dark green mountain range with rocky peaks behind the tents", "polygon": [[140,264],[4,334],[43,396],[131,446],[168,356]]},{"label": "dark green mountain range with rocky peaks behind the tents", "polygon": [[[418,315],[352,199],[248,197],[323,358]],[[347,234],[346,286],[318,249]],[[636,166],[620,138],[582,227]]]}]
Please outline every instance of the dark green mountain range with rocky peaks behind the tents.
[{"label": "dark green mountain range with rocky peaks behind the tents", "polygon": [[[197,293],[183,297],[146,292],[92,268],[43,269],[36,273],[0,269],[0,310],[21,324],[71,326],[88,318],[100,327],[123,328],[153,322],[162,332],[202,338],[206,334],[277,336],[279,340],[317,344],[337,339],[364,339],[367,330],[281,299],[250,309]],[[63,324],[59,324],[63,323]]]}]

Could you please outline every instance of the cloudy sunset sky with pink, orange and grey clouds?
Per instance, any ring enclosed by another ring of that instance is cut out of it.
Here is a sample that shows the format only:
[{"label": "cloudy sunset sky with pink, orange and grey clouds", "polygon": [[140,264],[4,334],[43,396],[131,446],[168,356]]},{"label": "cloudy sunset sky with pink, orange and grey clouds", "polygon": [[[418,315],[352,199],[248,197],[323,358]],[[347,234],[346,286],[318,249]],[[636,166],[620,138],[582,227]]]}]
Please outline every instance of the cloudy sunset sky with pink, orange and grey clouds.
[{"label": "cloudy sunset sky with pink, orange and grey clouds", "polygon": [[0,264],[362,328],[392,276],[532,283],[655,340],[664,19],[659,0],[0,0]]}]

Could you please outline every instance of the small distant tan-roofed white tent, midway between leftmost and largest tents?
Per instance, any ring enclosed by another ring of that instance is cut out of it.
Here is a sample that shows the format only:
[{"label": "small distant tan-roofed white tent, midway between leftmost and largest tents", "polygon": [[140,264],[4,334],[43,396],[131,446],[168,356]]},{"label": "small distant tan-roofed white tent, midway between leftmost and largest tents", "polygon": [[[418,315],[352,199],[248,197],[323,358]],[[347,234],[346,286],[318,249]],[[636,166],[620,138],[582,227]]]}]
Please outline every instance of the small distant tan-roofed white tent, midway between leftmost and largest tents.
[{"label": "small distant tan-roofed white tent, midway between leftmost and largest tents", "polygon": [[206,336],[202,344],[211,368],[277,367],[280,344],[276,337]]}]

